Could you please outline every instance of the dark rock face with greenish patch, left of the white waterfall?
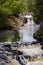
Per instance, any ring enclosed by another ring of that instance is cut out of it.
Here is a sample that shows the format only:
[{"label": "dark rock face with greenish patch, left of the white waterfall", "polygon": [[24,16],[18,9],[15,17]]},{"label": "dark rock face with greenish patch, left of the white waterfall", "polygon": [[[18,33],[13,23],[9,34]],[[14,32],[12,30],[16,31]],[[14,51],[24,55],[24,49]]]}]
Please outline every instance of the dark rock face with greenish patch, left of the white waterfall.
[{"label": "dark rock face with greenish patch, left of the white waterfall", "polygon": [[4,41],[16,41],[19,40],[19,33],[18,30],[2,30],[0,31],[0,42]]}]

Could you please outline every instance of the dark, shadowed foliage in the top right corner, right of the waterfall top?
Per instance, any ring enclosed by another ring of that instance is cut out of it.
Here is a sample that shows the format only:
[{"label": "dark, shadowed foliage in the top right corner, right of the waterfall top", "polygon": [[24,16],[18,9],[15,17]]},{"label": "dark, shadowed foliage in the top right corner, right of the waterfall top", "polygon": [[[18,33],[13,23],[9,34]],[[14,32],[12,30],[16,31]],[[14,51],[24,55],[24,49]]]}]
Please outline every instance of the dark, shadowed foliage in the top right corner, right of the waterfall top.
[{"label": "dark, shadowed foliage in the top right corner, right of the waterfall top", "polygon": [[34,17],[36,23],[40,23],[43,21],[43,0],[36,0],[34,10]]}]

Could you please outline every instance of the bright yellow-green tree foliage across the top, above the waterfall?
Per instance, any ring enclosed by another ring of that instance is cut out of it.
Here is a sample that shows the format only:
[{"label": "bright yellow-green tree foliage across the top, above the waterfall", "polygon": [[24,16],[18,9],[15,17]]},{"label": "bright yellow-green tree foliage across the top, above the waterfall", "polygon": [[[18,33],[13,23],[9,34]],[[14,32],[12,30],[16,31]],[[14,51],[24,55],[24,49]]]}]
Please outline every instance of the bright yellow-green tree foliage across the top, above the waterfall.
[{"label": "bright yellow-green tree foliage across the top, above the waterfall", "polygon": [[11,14],[18,16],[19,13],[24,11],[33,11],[34,0],[2,0],[1,7],[11,11]]}]

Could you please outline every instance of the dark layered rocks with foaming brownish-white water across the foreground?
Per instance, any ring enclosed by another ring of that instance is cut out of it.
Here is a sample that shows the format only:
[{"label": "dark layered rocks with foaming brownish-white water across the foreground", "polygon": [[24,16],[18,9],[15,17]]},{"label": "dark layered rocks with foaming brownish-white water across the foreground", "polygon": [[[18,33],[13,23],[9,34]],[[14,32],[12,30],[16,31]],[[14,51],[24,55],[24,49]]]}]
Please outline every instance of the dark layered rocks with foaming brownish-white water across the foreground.
[{"label": "dark layered rocks with foaming brownish-white water across the foreground", "polygon": [[41,45],[0,42],[0,65],[43,65]]}]

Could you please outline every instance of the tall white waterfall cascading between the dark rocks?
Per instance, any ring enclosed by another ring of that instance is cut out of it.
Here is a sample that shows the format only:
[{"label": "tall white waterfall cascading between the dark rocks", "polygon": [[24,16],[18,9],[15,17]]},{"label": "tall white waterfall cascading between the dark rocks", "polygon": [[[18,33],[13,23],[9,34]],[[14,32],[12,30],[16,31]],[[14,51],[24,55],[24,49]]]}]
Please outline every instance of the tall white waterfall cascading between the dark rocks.
[{"label": "tall white waterfall cascading between the dark rocks", "polygon": [[[39,28],[39,25],[35,24],[33,22],[33,18],[32,16],[27,16],[27,23],[24,24],[24,26],[19,30],[20,33],[20,41],[23,42],[32,42],[35,41],[35,39],[33,38],[33,33],[35,33],[35,31]],[[31,18],[31,21],[30,21]]]}]

